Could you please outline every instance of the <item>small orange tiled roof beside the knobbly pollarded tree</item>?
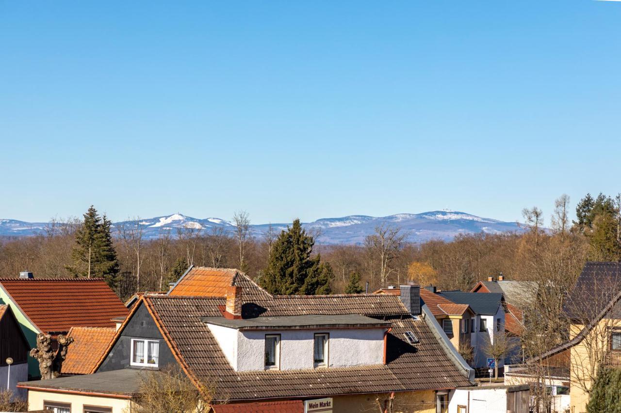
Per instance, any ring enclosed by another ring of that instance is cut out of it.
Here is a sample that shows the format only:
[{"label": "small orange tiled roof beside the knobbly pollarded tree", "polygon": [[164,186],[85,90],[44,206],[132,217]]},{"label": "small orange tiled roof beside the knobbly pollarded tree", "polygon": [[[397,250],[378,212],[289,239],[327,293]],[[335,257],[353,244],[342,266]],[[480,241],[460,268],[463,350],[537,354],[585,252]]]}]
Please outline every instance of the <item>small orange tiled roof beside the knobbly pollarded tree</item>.
[{"label": "small orange tiled roof beside the knobbly pollarded tree", "polygon": [[73,343],[67,348],[61,372],[69,375],[90,373],[115,333],[114,327],[71,327],[67,335],[73,337]]}]

